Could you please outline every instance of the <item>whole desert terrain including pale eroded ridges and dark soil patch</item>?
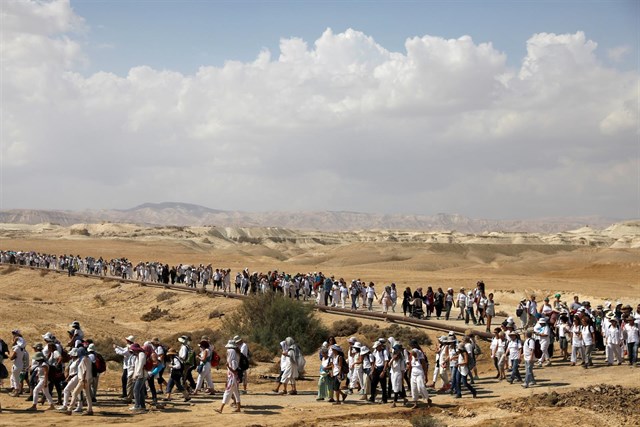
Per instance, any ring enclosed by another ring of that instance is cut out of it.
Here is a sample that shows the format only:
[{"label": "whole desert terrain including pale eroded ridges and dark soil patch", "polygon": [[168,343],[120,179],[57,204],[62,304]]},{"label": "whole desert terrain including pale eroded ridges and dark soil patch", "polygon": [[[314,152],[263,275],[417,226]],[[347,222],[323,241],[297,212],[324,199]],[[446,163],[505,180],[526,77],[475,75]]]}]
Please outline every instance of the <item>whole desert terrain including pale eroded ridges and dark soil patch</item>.
[{"label": "whole desert terrain including pale eroded ridges and dark soil patch", "polygon": [[[297,272],[322,271],[350,281],[361,278],[376,284],[395,282],[406,286],[471,287],[482,279],[494,292],[498,320],[513,315],[517,302],[530,294],[543,297],[559,292],[563,300],[573,295],[590,300],[637,304],[640,300],[640,221],[613,224],[601,229],[582,227],[552,234],[484,232],[468,234],[436,231],[295,231],[283,228],[140,226],[135,224],[2,224],[0,250],[38,251],[103,257],[126,257],[133,262],[161,261],[170,265],[209,264],[231,268],[232,273],[249,268],[266,272],[277,269]],[[52,331],[62,335],[68,324],[78,320],[95,341],[122,342],[134,335],[174,336],[182,331],[218,331],[221,316],[232,313],[242,302],[231,298],[210,298],[198,293],[121,283],[115,278],[67,277],[50,271],[0,266],[0,303],[3,315],[0,332],[22,330],[32,344]],[[168,318],[141,320],[153,307]],[[635,306],[635,305],[634,305]],[[379,311],[379,306],[376,307]],[[318,313],[330,327],[344,319],[337,314]],[[385,322],[358,319],[362,324]],[[464,326],[463,322],[441,321],[442,325]],[[425,329],[433,339],[443,332]],[[356,334],[357,336],[358,334]],[[284,338],[284,337],[283,337]],[[342,345],[348,337],[338,337]],[[171,343],[170,343],[171,344]],[[318,346],[320,343],[318,343]],[[118,384],[121,368],[109,362],[100,380],[100,394],[93,418],[67,417],[55,411],[28,413],[24,398],[7,395],[5,381],[0,403],[0,421],[5,425],[53,425],[65,423],[169,425],[302,426],[302,425],[389,425],[409,426],[416,416],[429,416],[443,425],[538,425],[574,422],[576,414],[584,425],[638,425],[640,369],[606,367],[597,353],[596,367],[582,370],[567,362],[536,369],[538,385],[523,389],[494,379],[494,368],[483,342],[479,357],[478,399],[432,396],[433,407],[410,410],[387,405],[367,405],[350,396],[345,405],[316,402],[319,363],[307,355],[307,380],[299,383],[298,396],[276,396],[271,392],[272,363],[258,363],[249,373],[249,393],[243,395],[243,414],[213,412],[220,395],[197,397],[189,403],[170,402],[163,409],[133,416],[120,403]],[[249,343],[251,347],[251,343]],[[433,363],[433,348],[427,350]],[[276,359],[274,359],[276,360]],[[554,361],[555,362],[555,361]],[[9,362],[5,361],[8,366]],[[430,378],[431,373],[428,377]],[[224,369],[214,371],[220,390]],[[413,420],[412,420],[413,418]],[[552,421],[553,420],[553,421]],[[426,424],[425,424],[426,425]],[[435,425],[435,424],[434,424]]]}]

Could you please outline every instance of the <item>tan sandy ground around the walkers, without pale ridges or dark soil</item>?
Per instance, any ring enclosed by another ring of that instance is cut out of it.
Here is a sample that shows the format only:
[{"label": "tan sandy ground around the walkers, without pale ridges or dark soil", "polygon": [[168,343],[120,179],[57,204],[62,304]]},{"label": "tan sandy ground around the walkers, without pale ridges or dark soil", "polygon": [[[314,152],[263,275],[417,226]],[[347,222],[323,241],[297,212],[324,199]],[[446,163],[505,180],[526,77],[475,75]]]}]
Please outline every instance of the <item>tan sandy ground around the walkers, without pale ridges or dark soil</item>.
[{"label": "tan sandy ground around the walkers, without pale ridges or dark soil", "polygon": [[[592,303],[606,299],[630,304],[640,300],[640,257],[638,249],[584,247],[571,245],[509,245],[509,244],[422,244],[393,242],[356,242],[299,248],[295,245],[234,244],[225,247],[196,244],[183,238],[68,238],[57,236],[7,236],[0,248],[38,250],[50,253],[74,253],[104,257],[126,256],[133,261],[160,260],[167,263],[213,263],[233,271],[249,267],[252,271],[271,269],[287,272],[323,271],[347,280],[362,278],[376,283],[394,281],[400,288],[417,285],[458,287],[473,285],[483,279],[489,290],[496,291],[498,311],[514,311],[516,301],[529,293],[548,295],[557,291],[579,294]],[[6,340],[9,331],[19,327],[30,343],[39,340],[45,331],[64,334],[68,323],[79,320],[87,334],[96,340],[121,339],[129,334],[138,337],[169,336],[179,331],[205,327],[216,330],[220,319],[209,319],[213,310],[231,312],[239,301],[207,298],[201,295],[176,293],[168,300],[158,301],[161,289],[120,284],[81,277],[68,278],[55,273],[17,270],[0,267],[0,334]],[[140,315],[153,306],[168,309],[171,321],[144,322]],[[342,318],[322,314],[327,324]],[[363,323],[375,322],[366,320]],[[460,326],[461,322],[451,324]],[[429,332],[432,336],[440,335]],[[640,369],[628,366],[602,367],[588,371],[563,363],[536,370],[539,386],[522,389],[493,379],[493,367],[485,355],[480,360],[479,398],[452,399],[448,395],[433,398],[435,406],[420,409],[448,425],[530,425],[535,419],[572,421],[580,415],[584,425],[638,425],[637,416],[619,413],[575,409],[571,406],[546,407],[536,405],[534,412],[512,412],[499,409],[504,399],[533,396],[543,392],[565,393],[586,385],[601,383],[637,386]],[[433,360],[433,354],[429,357]],[[273,383],[260,375],[269,372],[270,364],[259,364],[250,372],[249,394],[243,396],[242,415],[217,415],[213,408],[220,396],[199,397],[191,403],[174,401],[163,410],[132,416],[119,403],[117,384],[119,367],[110,362],[101,379],[101,397],[96,415],[66,417],[50,411],[37,414],[24,412],[29,403],[0,393],[2,425],[42,425],[66,423],[168,425],[188,422],[204,425],[219,421],[222,425],[410,425],[412,411],[391,409],[383,405],[368,405],[350,396],[346,405],[332,406],[315,401],[317,361],[308,357],[310,380],[300,383],[301,395],[275,396]],[[8,363],[7,363],[8,365]],[[602,355],[596,357],[602,365]],[[217,386],[223,381],[223,371],[214,372]],[[4,391],[4,390],[3,390]],[[415,411],[414,411],[415,412]],[[203,416],[204,415],[204,416]],[[552,421],[553,420],[553,421]],[[560,422],[560,421],[558,421]]]}]

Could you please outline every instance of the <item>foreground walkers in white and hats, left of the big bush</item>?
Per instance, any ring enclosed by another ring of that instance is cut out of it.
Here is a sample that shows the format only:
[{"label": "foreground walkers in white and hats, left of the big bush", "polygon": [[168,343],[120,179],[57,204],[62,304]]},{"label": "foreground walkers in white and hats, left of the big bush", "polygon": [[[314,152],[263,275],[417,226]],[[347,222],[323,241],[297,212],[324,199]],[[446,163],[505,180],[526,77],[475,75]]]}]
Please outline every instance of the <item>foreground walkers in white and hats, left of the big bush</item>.
[{"label": "foreground walkers in white and hats, left of the big bush", "polygon": [[[93,415],[100,376],[106,371],[105,358],[96,351],[96,343],[85,337],[78,321],[70,324],[67,334],[68,339],[60,341],[53,333],[46,332],[42,335],[44,343],[28,346],[20,330],[14,329],[10,346],[0,340],[0,366],[6,369],[4,360],[11,362],[10,371],[0,368],[0,374],[6,372],[0,375],[0,388],[5,377],[9,377],[9,396],[26,395],[32,402],[28,411],[36,411],[40,404],[67,415]],[[249,348],[240,336],[235,336],[225,349],[227,381],[222,403],[224,407],[233,400],[235,410],[239,411],[240,390],[244,393],[247,390]],[[163,402],[172,400],[174,390],[182,394],[184,402],[199,393],[215,393],[211,369],[217,367],[222,358],[207,336],[193,346],[191,337],[183,335],[169,347],[159,338],[139,344],[130,335],[123,338],[122,346],[113,344],[113,352],[122,357],[121,399],[123,404],[132,405],[129,409],[133,413],[146,412],[147,401],[162,408]],[[164,378],[165,372],[168,380]]]}]

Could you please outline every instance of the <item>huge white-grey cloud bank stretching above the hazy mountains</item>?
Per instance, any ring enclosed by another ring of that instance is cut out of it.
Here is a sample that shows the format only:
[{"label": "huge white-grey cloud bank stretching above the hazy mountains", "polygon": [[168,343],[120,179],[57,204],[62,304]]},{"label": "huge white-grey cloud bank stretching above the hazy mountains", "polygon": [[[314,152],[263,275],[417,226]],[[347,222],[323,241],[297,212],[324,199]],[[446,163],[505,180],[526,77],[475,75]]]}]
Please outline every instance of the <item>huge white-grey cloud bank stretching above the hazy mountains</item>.
[{"label": "huge white-grey cloud bank stretching above the hazy mountains", "polygon": [[86,24],[68,1],[7,5],[4,208],[637,212],[633,180],[618,181],[638,74],[603,65],[582,32],[532,35],[518,69],[469,36],[394,52],[327,29],[190,75],[83,76]]}]

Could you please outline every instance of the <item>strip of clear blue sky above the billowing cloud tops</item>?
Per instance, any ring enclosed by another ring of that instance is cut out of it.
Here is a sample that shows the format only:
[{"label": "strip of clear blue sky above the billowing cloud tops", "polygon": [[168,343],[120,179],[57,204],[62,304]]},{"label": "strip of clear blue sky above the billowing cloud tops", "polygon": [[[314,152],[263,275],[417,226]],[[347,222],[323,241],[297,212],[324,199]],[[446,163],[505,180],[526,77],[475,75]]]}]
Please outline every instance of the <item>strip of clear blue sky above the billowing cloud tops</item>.
[{"label": "strip of clear blue sky above the billowing cloud tops", "polygon": [[608,61],[609,48],[626,45],[620,68],[638,66],[640,2],[608,1],[163,1],[73,0],[86,19],[90,62],[98,70],[126,75],[149,65],[194,73],[202,65],[252,61],[262,49],[278,53],[280,38],[312,43],[330,27],[372,36],[389,50],[404,52],[409,37],[470,35],[491,42],[519,66],[534,33],[584,31]]}]

